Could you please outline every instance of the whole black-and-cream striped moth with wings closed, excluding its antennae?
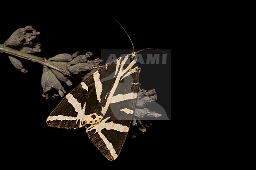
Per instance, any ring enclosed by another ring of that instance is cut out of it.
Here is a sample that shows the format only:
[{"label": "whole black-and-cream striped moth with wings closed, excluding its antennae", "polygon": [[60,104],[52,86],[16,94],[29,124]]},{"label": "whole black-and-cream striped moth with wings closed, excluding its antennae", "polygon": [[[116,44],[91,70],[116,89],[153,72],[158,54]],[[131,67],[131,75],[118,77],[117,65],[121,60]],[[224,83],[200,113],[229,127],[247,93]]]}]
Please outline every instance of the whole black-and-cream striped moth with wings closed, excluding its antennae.
[{"label": "whole black-and-cream striped moth with wings closed, excluding its antennae", "polygon": [[47,119],[58,128],[87,127],[87,134],[110,161],[120,154],[135,109],[138,67],[127,55],[100,68],[72,90]]}]

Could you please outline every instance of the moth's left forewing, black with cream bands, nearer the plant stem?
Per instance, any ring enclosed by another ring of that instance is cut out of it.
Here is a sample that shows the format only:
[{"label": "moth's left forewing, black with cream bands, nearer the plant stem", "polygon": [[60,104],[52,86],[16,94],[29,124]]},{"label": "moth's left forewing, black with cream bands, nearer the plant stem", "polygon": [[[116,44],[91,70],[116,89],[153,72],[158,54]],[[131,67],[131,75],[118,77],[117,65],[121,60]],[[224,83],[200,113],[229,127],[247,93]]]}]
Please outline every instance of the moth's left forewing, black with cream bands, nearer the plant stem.
[{"label": "moth's left forewing, black with cream bands, nearer the plant stem", "polygon": [[[115,65],[115,61],[108,65]],[[105,97],[105,93],[112,88],[111,79],[114,73],[111,72],[114,71],[115,69],[111,71],[110,68],[106,71],[106,68],[102,67],[76,86],[49,115],[46,121],[48,126],[69,129],[100,122],[105,114],[102,113],[105,103],[102,96]]]}]

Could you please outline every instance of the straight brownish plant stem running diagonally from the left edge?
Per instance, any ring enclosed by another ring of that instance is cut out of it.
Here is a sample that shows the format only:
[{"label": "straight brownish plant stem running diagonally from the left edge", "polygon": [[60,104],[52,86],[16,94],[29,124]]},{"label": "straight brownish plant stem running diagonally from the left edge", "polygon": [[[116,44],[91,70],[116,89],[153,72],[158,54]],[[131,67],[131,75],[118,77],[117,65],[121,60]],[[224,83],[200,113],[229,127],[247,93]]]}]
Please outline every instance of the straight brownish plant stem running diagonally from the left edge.
[{"label": "straight brownish plant stem running diagonally from the left edge", "polygon": [[66,70],[60,68],[59,66],[57,66],[56,64],[48,61],[46,58],[41,58],[41,57],[37,57],[35,55],[24,53],[24,52],[16,50],[16,49],[6,47],[2,44],[0,44],[0,52],[7,53],[7,54],[10,54],[10,55],[14,55],[16,57],[24,58],[24,59],[27,59],[27,60],[30,60],[30,61],[33,61],[33,62],[37,62],[39,64],[42,64],[42,65],[48,66],[50,68],[56,69],[56,70],[60,71],[61,73],[63,73],[64,75],[69,75],[70,76],[70,73],[68,71],[66,71]]}]

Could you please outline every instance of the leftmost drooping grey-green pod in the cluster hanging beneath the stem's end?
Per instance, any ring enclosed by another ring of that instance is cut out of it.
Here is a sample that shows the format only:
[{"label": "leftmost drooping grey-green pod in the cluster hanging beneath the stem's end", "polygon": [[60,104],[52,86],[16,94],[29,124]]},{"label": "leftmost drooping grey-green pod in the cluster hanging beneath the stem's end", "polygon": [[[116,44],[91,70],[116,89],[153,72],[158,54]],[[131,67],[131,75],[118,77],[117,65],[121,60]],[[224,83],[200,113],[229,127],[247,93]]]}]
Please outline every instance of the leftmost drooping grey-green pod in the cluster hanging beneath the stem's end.
[{"label": "leftmost drooping grey-green pod in the cluster hanging beneath the stem's end", "polygon": [[41,86],[43,88],[43,93],[46,93],[47,91],[54,88],[54,84],[52,82],[52,77],[49,73],[49,69],[47,66],[43,66],[43,75],[42,75],[42,79],[41,79]]}]

